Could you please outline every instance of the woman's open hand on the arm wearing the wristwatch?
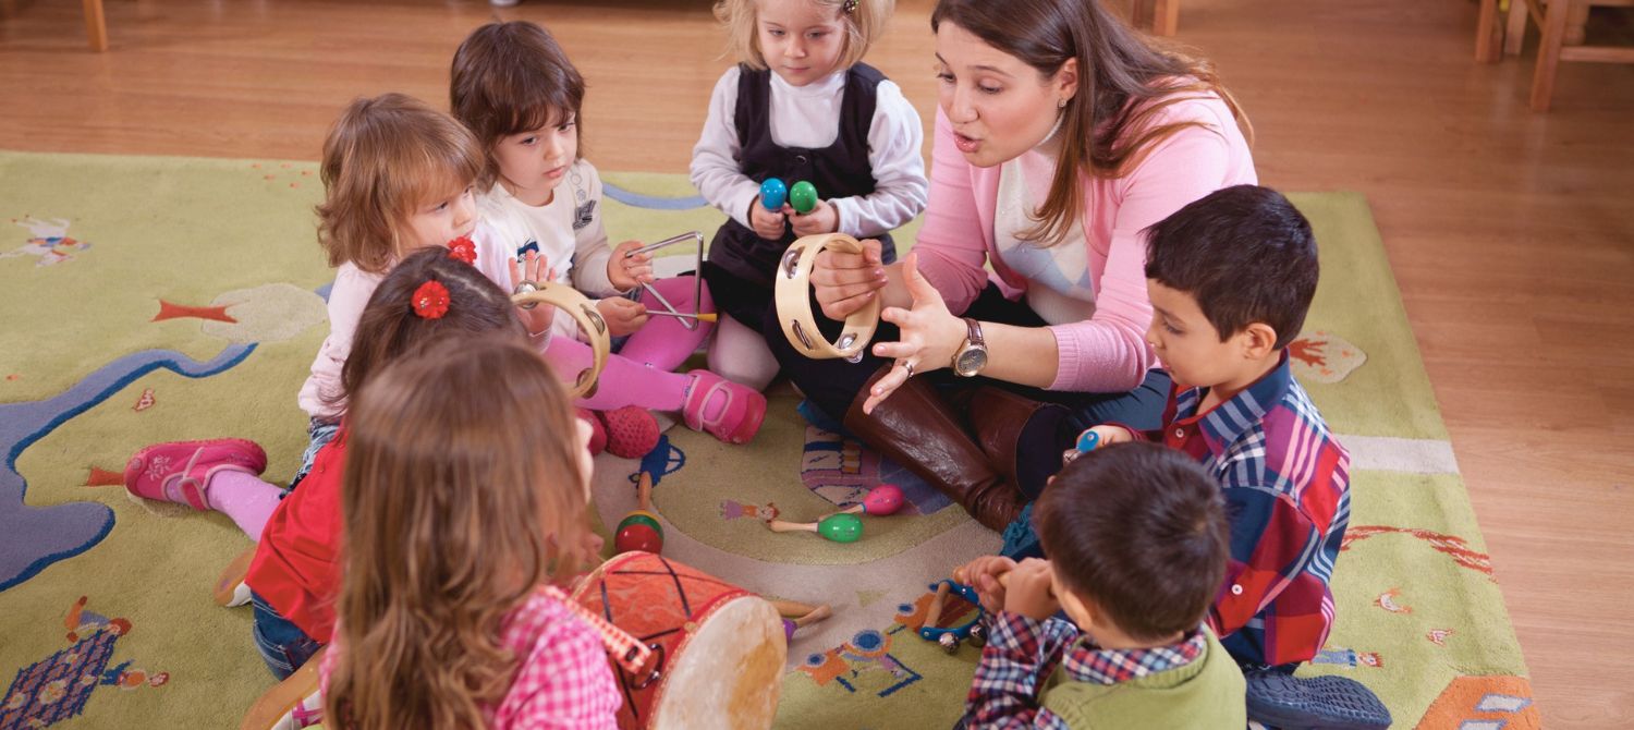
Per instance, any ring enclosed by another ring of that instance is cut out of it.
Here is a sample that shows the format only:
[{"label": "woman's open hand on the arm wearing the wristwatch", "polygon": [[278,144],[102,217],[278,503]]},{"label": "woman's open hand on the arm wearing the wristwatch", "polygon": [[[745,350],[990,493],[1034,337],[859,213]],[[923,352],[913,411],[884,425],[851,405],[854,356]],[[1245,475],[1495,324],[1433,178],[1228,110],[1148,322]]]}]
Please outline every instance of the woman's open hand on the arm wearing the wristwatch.
[{"label": "woman's open hand on the arm wearing the wristwatch", "polygon": [[863,402],[863,413],[873,413],[874,407],[889,398],[909,377],[936,371],[953,364],[954,353],[964,345],[969,328],[964,320],[954,317],[943,302],[941,292],[925,281],[918,273],[918,258],[913,253],[902,261],[902,281],[913,297],[913,309],[886,307],[879,318],[897,325],[902,340],[894,343],[874,343],[874,354],[879,358],[895,358],[891,372],[874,382]]}]

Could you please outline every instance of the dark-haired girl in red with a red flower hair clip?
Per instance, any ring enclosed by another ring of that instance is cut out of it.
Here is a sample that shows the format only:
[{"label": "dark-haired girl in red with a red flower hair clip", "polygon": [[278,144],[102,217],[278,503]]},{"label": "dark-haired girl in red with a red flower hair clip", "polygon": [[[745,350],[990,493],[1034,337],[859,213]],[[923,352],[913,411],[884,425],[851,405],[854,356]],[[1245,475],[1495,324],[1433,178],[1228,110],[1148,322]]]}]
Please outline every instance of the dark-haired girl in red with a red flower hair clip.
[{"label": "dark-haired girl in red with a red flower hair clip", "polygon": [[[498,286],[449,258],[449,251],[410,253],[381,281],[358,317],[340,392],[358,392],[387,363],[453,333],[508,333],[521,340],[523,325],[515,312]],[[343,428],[319,449],[312,472],[288,496],[248,474],[248,462],[258,467],[266,462],[252,441],[155,444],[139,451],[126,467],[132,495],[186,501],[201,510],[208,505],[257,541],[245,576],[255,611],[255,645],[279,679],[301,668],[333,632],[346,451]]]}]

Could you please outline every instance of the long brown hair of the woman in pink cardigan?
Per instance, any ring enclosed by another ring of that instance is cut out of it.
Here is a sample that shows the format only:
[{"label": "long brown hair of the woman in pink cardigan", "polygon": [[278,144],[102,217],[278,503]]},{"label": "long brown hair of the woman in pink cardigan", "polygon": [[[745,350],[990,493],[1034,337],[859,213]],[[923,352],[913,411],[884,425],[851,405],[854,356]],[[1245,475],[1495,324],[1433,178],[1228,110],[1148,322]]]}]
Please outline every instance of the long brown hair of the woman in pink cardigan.
[{"label": "long brown hair of the woman in pink cardigan", "polygon": [[1064,109],[1060,152],[1049,196],[1028,240],[1059,243],[1083,212],[1080,175],[1121,178],[1141,165],[1159,142],[1203,126],[1196,121],[1157,124],[1176,101],[1219,95],[1252,139],[1253,127],[1221,85],[1214,64],[1178,44],[1129,28],[1101,0],[941,0],[930,16],[935,33],[953,23],[1003,51],[1041,77],[1078,59],[1078,91]]}]

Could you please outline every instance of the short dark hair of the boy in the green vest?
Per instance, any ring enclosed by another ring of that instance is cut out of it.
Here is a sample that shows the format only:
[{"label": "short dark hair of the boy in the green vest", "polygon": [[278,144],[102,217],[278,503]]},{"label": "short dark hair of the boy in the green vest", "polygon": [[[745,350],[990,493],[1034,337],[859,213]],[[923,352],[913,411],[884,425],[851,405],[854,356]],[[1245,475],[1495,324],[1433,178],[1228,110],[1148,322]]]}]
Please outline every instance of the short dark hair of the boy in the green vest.
[{"label": "short dark hair of the boy in the green vest", "polygon": [[1196,629],[1226,578],[1224,498],[1175,449],[1131,443],[1083,454],[1044,490],[1033,519],[1067,590],[1132,639]]}]

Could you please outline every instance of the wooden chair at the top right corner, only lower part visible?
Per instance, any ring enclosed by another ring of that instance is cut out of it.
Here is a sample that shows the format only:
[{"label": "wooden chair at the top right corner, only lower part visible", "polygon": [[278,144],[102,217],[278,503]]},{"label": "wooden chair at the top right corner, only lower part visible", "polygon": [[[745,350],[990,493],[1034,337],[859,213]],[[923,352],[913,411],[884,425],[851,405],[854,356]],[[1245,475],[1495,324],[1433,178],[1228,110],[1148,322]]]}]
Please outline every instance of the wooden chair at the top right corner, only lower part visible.
[{"label": "wooden chair at the top right corner, only lower part visible", "polygon": [[[1562,60],[1634,64],[1634,47],[1572,44],[1582,41],[1582,24],[1593,7],[1634,8],[1634,0],[1510,0],[1508,28],[1502,33],[1503,56],[1520,56],[1528,18],[1538,24],[1542,34],[1542,42],[1538,47],[1538,70],[1533,73],[1533,111],[1549,111],[1554,103],[1554,77],[1560,72]],[[1477,60],[1498,60],[1495,23],[1497,0],[1482,0],[1476,36]]]}]

